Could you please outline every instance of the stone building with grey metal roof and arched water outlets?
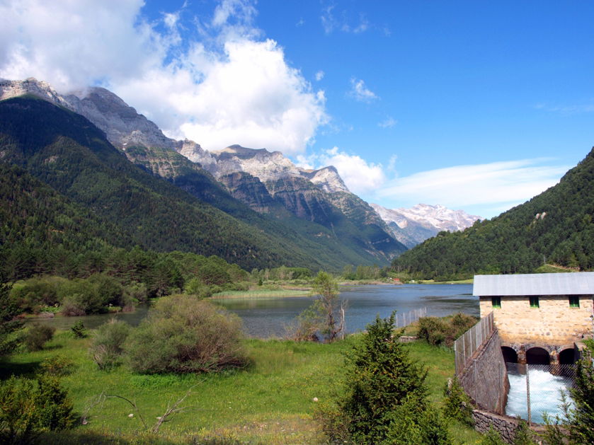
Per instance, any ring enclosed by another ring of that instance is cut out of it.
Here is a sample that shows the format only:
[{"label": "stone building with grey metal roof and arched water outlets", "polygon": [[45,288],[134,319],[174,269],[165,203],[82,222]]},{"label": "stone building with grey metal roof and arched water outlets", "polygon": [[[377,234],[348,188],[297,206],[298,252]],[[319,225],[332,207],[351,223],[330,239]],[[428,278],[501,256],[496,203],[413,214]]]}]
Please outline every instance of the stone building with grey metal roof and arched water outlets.
[{"label": "stone building with grey metal roof and arched water outlets", "polygon": [[572,363],[593,335],[594,272],[476,275],[481,317],[493,311],[506,362]]}]

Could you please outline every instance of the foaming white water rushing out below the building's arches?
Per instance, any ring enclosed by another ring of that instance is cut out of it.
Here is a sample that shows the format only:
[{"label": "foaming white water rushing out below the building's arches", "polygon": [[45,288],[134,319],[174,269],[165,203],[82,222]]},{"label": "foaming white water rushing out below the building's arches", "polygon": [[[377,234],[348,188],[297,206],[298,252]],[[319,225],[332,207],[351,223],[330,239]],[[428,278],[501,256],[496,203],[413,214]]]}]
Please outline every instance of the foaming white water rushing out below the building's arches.
[{"label": "foaming white water rushing out below the building's arches", "polygon": [[[571,385],[571,380],[563,376],[554,376],[542,369],[532,369],[530,365],[528,372],[530,376],[532,422],[544,423],[542,418],[544,412],[547,412],[549,417],[561,416],[563,414],[561,410],[561,390],[566,393],[567,401],[571,402],[567,391]],[[506,414],[528,420],[526,375],[510,373],[508,377],[510,379],[510,392],[508,394]]]}]

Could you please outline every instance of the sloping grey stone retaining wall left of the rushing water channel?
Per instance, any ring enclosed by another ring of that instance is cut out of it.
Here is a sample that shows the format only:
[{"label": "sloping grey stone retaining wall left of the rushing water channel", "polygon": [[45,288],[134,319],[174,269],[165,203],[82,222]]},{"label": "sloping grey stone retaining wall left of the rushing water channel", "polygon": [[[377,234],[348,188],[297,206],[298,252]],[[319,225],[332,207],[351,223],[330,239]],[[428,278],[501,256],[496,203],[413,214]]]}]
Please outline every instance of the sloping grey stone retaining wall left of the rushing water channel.
[{"label": "sloping grey stone retaining wall left of the rushing water channel", "polygon": [[467,362],[458,380],[479,408],[506,412],[510,382],[497,329]]}]

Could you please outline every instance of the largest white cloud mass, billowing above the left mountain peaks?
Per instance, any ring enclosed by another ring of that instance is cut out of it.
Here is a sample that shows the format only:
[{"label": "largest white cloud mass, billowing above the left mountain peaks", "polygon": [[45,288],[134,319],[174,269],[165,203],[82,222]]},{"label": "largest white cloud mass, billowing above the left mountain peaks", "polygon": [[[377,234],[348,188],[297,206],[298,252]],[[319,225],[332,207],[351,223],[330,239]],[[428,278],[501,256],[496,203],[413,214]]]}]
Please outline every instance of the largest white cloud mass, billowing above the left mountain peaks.
[{"label": "largest white cloud mass, billowing above the left mountain peaks", "polygon": [[105,86],[169,136],[207,149],[237,143],[304,151],[327,120],[324,91],[262,38],[252,1],[222,0],[211,18],[184,23],[189,13],[181,10],[149,23],[143,4],[0,3],[0,77],[34,76],[62,93]]}]

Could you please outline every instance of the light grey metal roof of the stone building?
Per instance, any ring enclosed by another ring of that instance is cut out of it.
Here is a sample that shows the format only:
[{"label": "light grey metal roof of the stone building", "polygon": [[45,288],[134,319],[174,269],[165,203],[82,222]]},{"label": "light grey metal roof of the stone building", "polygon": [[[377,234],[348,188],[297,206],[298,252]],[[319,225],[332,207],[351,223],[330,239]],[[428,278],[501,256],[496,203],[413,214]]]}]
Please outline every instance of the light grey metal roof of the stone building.
[{"label": "light grey metal roof of the stone building", "polygon": [[475,296],[594,295],[594,272],[474,275]]}]

